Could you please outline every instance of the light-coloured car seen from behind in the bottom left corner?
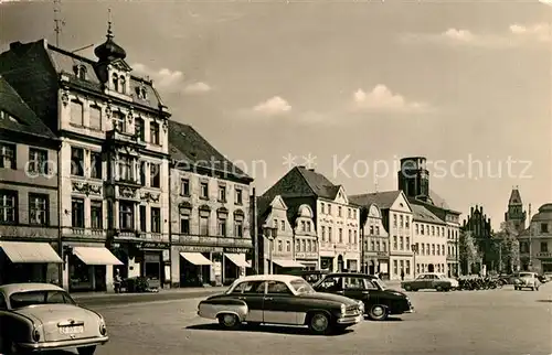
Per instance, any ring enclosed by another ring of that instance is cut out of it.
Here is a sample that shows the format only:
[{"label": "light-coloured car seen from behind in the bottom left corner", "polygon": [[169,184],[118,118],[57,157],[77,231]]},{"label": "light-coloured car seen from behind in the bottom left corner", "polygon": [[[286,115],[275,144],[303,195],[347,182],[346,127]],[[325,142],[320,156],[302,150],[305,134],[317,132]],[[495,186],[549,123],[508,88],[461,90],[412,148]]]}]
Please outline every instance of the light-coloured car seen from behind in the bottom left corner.
[{"label": "light-coloured car seen from behind in the bottom left corner", "polygon": [[76,348],[92,355],[107,343],[104,318],[50,283],[0,286],[0,354]]}]

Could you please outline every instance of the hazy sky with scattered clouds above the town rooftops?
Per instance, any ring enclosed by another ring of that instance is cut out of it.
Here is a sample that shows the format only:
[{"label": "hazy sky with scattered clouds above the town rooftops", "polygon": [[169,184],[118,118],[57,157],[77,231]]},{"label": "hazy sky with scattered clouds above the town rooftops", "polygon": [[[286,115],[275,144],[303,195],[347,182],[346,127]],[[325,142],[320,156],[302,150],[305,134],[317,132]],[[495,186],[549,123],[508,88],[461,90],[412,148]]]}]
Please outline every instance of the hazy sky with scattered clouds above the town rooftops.
[{"label": "hazy sky with scattered clouds above the town rooftops", "polygon": [[[496,229],[512,186],[552,202],[552,7],[539,1],[62,0],[60,46],[115,42],[172,111],[263,193],[293,165],[348,194],[396,190],[399,159]],[[0,50],[55,43],[51,1],[0,0]],[[77,53],[94,58],[91,46]]]}]

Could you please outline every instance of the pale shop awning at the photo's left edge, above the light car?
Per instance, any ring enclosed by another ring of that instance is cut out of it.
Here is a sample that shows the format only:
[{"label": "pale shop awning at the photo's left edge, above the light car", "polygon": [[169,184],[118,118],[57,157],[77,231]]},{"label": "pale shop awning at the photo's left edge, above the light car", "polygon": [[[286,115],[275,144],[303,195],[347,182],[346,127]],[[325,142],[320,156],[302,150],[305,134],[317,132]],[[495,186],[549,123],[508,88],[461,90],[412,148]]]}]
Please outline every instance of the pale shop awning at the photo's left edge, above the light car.
[{"label": "pale shop awning at the photo's left edge, above the light car", "polygon": [[0,241],[0,248],[11,262],[18,263],[63,263],[62,258],[47,243]]}]

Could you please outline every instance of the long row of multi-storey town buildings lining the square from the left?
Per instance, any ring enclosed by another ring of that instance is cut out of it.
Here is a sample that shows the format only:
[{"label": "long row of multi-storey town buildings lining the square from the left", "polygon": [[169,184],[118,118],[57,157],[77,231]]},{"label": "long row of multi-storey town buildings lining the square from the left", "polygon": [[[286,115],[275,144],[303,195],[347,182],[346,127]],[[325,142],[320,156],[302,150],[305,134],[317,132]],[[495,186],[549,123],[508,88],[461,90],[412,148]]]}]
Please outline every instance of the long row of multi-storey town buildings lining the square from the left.
[{"label": "long row of multi-storey town buildings lining the square from the left", "polygon": [[95,55],[45,40],[0,54],[0,283],[457,273],[460,213],[431,192],[424,158],[402,160],[396,191],[348,195],[297,166],[255,196],[252,178],[172,120],[110,29]]}]

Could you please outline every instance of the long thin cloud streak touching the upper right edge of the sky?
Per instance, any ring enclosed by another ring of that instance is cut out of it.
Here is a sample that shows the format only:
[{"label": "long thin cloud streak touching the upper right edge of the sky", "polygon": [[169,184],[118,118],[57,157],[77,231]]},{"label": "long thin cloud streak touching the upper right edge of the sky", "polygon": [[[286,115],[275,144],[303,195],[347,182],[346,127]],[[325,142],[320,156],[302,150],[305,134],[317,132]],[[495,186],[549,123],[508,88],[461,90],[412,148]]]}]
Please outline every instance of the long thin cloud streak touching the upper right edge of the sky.
[{"label": "long thin cloud streak touching the upper right edge of the sky", "polygon": [[502,33],[474,33],[465,29],[448,29],[442,33],[408,33],[402,36],[406,43],[434,43],[453,46],[475,46],[487,49],[511,49],[528,44],[550,42],[550,25],[512,24]]}]

